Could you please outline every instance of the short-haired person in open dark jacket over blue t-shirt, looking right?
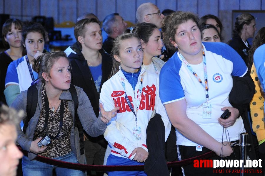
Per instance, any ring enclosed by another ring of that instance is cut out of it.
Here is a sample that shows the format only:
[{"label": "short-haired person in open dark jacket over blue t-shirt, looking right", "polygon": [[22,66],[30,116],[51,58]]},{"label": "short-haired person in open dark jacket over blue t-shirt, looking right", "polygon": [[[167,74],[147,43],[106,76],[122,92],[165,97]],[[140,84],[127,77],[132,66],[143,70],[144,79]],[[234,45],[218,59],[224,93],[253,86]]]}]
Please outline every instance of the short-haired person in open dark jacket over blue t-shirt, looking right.
[{"label": "short-haired person in open dark jacket over blue t-shirt, looking right", "polygon": [[[102,84],[108,80],[112,60],[102,50],[101,28],[95,18],[82,19],[74,27],[76,41],[81,51],[69,55],[72,68],[72,83],[83,88],[96,116],[99,116],[99,94]],[[85,154],[87,164],[103,165],[107,142],[103,135],[92,138],[85,134]],[[97,175],[103,175],[98,172]]]}]

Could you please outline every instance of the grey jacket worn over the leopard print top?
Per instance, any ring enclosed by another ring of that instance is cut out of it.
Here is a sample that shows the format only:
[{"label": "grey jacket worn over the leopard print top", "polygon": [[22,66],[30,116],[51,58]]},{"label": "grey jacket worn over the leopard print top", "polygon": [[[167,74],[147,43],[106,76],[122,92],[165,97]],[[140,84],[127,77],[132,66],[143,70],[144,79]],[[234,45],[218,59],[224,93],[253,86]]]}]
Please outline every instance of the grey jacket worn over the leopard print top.
[{"label": "grey jacket worn over the leopard print top", "polygon": [[[20,126],[17,127],[17,132],[18,132],[17,143],[22,147],[23,150],[29,152],[28,157],[30,160],[33,160],[37,156],[37,154],[30,152],[30,146],[41,113],[41,83],[39,83],[36,87],[38,89],[38,104],[34,116],[29,121],[29,125],[26,129],[26,134],[24,134],[23,131],[21,131]],[[96,137],[103,134],[107,127],[106,123],[101,121],[101,118],[96,118],[91,103],[87,95],[83,91],[83,89],[76,86],[75,88],[79,101],[77,114],[79,116],[79,119],[81,121],[84,130],[92,137]],[[74,101],[72,99],[69,90],[63,91],[59,99],[68,100],[68,108],[73,117],[73,122],[75,122]],[[27,90],[21,92],[21,94],[18,95],[18,97],[15,99],[11,107],[15,108],[16,110],[22,109],[26,112],[26,104],[27,104],[26,102],[27,102]],[[74,155],[76,156],[78,162],[80,164],[84,164],[85,156],[80,155],[79,133],[78,129],[74,126],[74,124],[71,127],[70,142],[71,142],[71,149],[74,152]]]}]

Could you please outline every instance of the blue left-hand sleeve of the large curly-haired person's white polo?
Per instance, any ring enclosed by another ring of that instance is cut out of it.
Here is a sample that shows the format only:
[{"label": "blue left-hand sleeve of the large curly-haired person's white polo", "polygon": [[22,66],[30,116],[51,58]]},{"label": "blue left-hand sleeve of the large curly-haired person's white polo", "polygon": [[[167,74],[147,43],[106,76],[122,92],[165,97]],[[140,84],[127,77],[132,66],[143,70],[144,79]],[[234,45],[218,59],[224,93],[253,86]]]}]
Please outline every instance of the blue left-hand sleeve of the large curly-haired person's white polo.
[{"label": "blue left-hand sleeve of the large curly-haired person's white polo", "polygon": [[159,75],[159,96],[163,104],[185,98],[179,70],[181,61],[175,53],[162,67]]}]

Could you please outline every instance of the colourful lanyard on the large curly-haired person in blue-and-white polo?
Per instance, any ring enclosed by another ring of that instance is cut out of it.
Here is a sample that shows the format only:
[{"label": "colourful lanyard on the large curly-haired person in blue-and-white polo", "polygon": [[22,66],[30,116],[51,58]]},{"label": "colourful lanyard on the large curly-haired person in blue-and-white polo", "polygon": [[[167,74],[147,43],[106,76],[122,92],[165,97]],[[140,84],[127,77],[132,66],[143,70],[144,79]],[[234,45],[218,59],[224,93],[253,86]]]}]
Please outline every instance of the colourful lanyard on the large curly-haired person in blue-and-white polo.
[{"label": "colourful lanyard on the large curly-haired person in blue-and-white polo", "polygon": [[202,83],[201,79],[199,78],[199,76],[196,74],[196,72],[193,70],[193,68],[189,65],[189,63],[186,61],[186,59],[179,53],[182,61],[184,62],[184,64],[187,66],[187,68],[191,71],[191,73],[194,75],[194,77],[199,81],[199,83],[201,83],[201,85],[204,87],[205,89],[205,96],[206,96],[206,100],[207,100],[207,104],[208,104],[208,100],[209,100],[209,85],[208,85],[208,77],[207,77],[207,69],[206,69],[206,58],[205,58],[205,52],[204,52],[204,48],[202,46],[202,62],[204,65],[204,84]]}]

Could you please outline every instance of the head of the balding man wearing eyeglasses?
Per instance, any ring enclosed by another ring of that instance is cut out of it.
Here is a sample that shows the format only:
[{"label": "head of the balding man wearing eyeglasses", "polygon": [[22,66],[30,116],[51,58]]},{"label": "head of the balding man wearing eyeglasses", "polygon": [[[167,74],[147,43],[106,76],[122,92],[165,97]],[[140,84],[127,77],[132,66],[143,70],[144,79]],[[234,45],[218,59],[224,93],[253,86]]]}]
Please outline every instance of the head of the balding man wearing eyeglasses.
[{"label": "head of the balding man wearing eyeglasses", "polygon": [[157,28],[161,28],[165,16],[160,12],[155,4],[150,2],[141,4],[136,11],[138,23],[153,23]]}]

